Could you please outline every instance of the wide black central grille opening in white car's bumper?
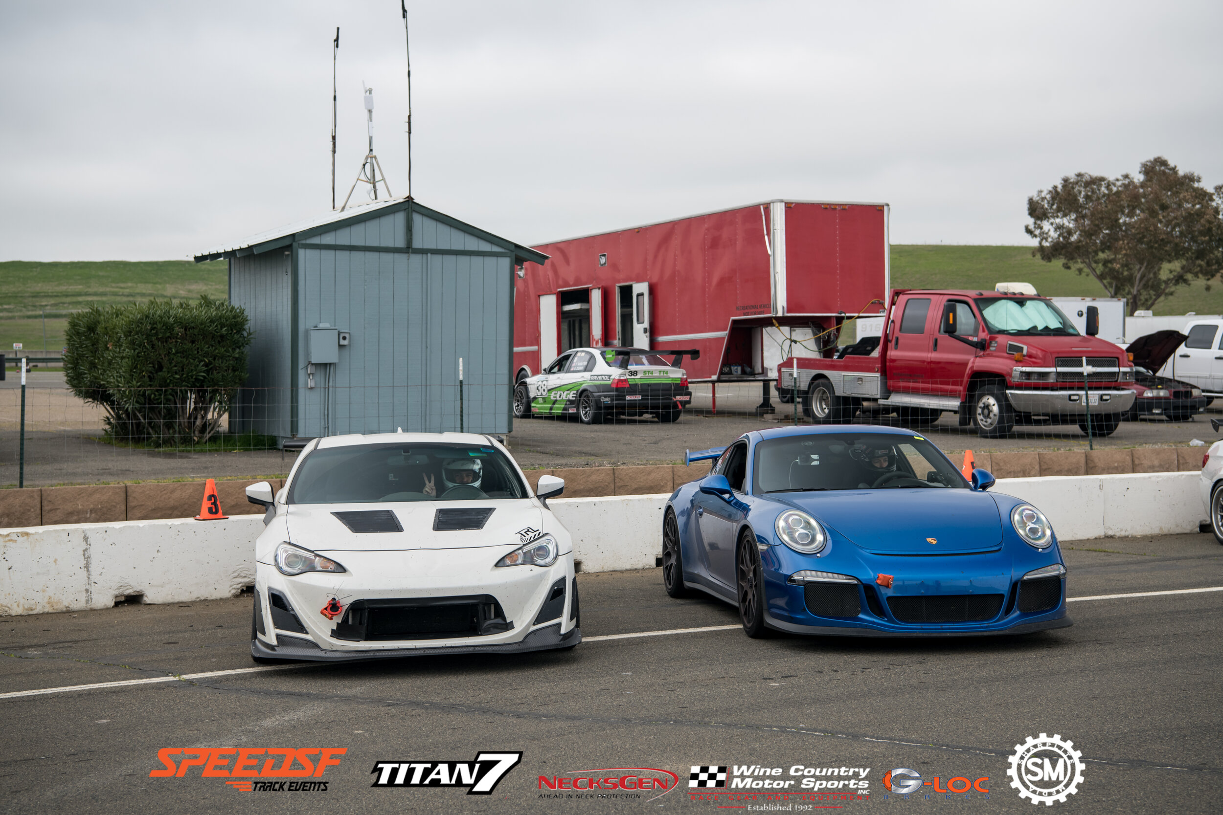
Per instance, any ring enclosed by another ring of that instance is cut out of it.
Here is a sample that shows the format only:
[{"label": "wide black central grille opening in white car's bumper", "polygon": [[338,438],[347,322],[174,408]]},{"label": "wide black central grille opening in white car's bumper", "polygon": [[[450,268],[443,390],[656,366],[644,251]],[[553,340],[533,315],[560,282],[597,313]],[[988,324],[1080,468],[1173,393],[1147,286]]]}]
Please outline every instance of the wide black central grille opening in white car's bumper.
[{"label": "wide black central grille opening in white car's bumper", "polygon": [[487,637],[514,628],[495,598],[357,600],[331,632],[353,641]]}]

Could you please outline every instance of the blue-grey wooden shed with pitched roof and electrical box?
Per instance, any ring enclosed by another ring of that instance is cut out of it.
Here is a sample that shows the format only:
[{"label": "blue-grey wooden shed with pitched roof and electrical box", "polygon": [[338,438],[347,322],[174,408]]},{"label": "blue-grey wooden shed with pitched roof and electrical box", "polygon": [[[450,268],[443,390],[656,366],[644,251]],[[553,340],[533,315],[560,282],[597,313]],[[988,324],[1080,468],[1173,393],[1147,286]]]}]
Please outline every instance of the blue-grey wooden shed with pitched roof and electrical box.
[{"label": "blue-grey wooden shed with pitched roof and electrical box", "polygon": [[514,274],[548,255],[375,202],[196,255],[229,259],[254,340],[231,433],[509,433]]}]

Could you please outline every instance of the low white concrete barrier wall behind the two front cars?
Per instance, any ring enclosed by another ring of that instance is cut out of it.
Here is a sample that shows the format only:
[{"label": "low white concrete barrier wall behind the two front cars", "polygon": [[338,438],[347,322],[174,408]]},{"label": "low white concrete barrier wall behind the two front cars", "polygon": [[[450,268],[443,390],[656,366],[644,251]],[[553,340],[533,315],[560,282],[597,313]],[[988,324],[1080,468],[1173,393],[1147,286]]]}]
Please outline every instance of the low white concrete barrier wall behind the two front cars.
[{"label": "low white concrete barrier wall behind the two front cars", "polygon": [[[999,479],[996,492],[1043,511],[1060,540],[1197,532],[1197,473]],[[549,501],[586,572],[651,568],[668,495]],[[0,529],[0,616],[185,602],[236,595],[254,580],[260,516]]]}]

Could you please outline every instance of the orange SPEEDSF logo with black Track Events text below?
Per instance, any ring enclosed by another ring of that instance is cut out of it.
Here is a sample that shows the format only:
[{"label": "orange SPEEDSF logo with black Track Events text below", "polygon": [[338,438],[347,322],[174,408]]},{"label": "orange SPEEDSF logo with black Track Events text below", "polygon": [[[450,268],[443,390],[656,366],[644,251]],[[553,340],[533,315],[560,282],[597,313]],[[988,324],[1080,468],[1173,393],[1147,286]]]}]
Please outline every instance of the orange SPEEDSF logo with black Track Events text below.
[{"label": "orange SPEEDSF logo with black Track Events text below", "polygon": [[344,747],[164,747],[157,751],[164,766],[149,777],[183,778],[201,767],[202,778],[229,778],[238,792],[327,792],[327,781],[306,778],[320,778],[345,753]]}]

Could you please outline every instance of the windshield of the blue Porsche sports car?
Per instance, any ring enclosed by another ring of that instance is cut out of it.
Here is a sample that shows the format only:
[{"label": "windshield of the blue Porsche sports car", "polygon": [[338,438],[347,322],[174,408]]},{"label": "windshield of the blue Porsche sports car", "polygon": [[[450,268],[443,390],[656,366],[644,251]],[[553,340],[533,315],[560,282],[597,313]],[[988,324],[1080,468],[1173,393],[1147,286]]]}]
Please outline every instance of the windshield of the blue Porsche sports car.
[{"label": "windshield of the blue Porsche sports car", "polygon": [[821,433],[756,445],[756,494],[963,488],[964,477],[921,436]]}]

